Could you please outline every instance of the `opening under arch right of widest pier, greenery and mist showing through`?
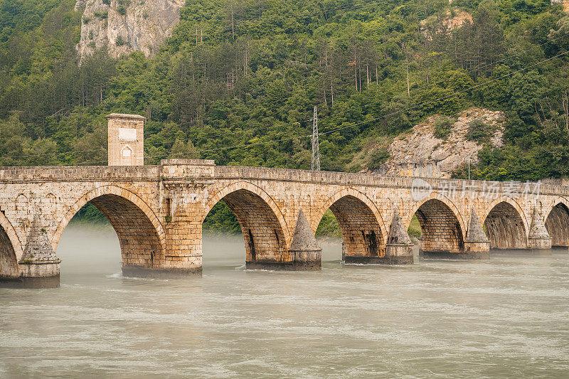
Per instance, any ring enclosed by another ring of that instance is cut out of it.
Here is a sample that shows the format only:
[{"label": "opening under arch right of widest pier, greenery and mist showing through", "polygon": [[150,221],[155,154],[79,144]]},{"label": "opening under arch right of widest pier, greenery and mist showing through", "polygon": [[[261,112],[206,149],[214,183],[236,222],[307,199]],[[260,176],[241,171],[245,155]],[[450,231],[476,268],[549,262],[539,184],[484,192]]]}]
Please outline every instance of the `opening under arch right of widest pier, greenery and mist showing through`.
[{"label": "opening under arch right of widest pier, greenery and mist showing through", "polygon": [[243,257],[242,247],[228,242],[226,236],[211,237],[212,233],[220,232],[243,236],[247,264],[289,261],[282,225],[270,205],[256,193],[245,189],[228,193],[206,215],[202,224],[204,267],[213,265],[212,260],[243,262],[243,258],[236,256]]}]

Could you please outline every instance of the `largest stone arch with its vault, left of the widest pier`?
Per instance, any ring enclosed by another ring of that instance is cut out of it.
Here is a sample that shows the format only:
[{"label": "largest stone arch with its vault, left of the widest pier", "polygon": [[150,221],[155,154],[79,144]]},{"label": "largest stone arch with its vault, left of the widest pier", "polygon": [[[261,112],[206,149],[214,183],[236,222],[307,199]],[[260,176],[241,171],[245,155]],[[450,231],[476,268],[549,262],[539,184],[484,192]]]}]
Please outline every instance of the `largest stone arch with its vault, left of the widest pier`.
[{"label": "largest stone arch with its vault, left of the widest pier", "polygon": [[112,185],[85,193],[70,207],[53,235],[53,250],[57,250],[63,230],[70,220],[87,203],[95,205],[115,229],[123,267],[151,268],[164,263],[165,233],[158,218],[142,198]]}]

